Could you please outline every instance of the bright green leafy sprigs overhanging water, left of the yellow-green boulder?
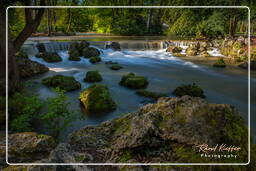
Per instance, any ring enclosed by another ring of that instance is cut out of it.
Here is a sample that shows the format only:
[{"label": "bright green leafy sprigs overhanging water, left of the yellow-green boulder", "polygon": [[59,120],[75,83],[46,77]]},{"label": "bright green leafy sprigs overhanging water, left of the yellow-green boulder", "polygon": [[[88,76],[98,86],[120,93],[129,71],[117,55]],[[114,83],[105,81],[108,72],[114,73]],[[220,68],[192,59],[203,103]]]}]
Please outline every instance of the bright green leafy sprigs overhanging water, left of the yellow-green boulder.
[{"label": "bright green leafy sprigs overhanging water, left of the yellow-green boulder", "polygon": [[58,136],[60,131],[69,126],[71,118],[74,117],[74,112],[69,111],[69,103],[64,90],[55,88],[57,97],[48,98],[46,101],[47,112],[42,114],[40,119],[44,123],[48,132],[52,136]]}]

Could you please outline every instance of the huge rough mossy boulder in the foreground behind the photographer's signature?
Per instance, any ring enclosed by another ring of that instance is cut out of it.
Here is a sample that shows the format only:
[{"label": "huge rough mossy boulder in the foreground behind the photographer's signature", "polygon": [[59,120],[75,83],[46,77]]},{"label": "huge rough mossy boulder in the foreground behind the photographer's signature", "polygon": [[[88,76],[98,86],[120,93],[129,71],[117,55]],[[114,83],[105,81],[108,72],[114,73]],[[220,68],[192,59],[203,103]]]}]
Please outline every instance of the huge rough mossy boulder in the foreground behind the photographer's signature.
[{"label": "huge rough mossy boulder in the foreground behind the photographer's signature", "polygon": [[[136,112],[75,131],[68,143],[75,152],[97,156],[90,162],[233,163],[247,162],[247,131],[230,105],[190,96],[162,97]],[[198,145],[202,144],[241,149],[232,152],[238,158],[219,160],[201,157]]]}]

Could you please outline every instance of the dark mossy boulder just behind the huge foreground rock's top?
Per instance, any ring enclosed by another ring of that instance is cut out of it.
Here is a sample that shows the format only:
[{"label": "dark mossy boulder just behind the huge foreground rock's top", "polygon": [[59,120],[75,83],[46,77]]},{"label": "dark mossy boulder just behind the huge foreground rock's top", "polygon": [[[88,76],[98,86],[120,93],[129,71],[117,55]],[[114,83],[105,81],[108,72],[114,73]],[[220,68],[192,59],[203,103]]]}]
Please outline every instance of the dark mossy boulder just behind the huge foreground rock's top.
[{"label": "dark mossy boulder just behind the huge foreground rock's top", "polygon": [[195,83],[181,85],[173,91],[173,94],[178,97],[188,95],[192,97],[205,98],[204,91]]}]

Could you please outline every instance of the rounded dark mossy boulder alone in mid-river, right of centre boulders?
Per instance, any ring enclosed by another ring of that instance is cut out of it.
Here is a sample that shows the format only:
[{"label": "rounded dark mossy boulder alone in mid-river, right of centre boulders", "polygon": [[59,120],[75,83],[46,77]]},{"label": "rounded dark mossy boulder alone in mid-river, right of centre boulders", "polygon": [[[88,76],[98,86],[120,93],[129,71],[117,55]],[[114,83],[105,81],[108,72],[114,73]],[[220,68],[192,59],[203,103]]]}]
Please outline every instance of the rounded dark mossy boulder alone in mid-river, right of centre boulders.
[{"label": "rounded dark mossy boulder alone in mid-river, right of centre boulders", "polygon": [[129,73],[122,77],[119,84],[128,88],[139,89],[146,88],[148,86],[148,80],[146,77],[136,76],[134,73]]}]

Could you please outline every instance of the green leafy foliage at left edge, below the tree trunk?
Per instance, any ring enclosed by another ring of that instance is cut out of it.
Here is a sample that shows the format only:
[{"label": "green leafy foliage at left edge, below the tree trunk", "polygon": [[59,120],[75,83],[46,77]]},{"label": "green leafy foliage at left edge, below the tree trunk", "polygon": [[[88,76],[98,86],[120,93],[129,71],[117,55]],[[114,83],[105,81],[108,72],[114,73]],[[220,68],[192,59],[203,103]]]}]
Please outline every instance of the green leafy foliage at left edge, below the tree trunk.
[{"label": "green leafy foliage at left edge, below the tree trunk", "polygon": [[11,130],[14,132],[32,131],[32,121],[37,118],[42,107],[42,102],[37,96],[24,96],[14,94],[9,100],[9,115]]}]

